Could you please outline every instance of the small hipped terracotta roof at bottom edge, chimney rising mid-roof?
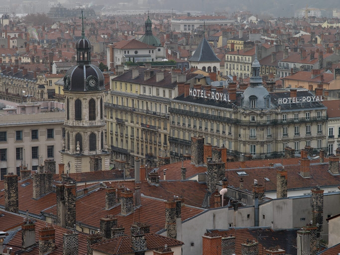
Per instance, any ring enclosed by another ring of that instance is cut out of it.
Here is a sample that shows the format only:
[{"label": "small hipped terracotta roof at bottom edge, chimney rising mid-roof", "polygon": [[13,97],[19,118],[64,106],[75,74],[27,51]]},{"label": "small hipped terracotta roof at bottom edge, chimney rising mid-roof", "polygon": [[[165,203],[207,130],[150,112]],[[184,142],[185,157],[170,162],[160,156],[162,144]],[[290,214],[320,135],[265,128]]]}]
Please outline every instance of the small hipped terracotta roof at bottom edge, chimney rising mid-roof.
[{"label": "small hipped terracotta roof at bottom edge, chimney rising mid-roof", "polygon": [[[167,238],[165,236],[157,235],[157,234],[146,234],[145,235],[147,250],[154,250],[159,247],[164,247],[167,245],[168,247],[176,247],[184,245],[183,242],[180,242],[175,239]],[[130,236],[119,237],[110,239],[92,246],[92,249],[101,253],[109,254],[109,255],[118,255],[118,254],[134,254],[135,251],[131,247],[131,239]],[[147,251],[145,251],[147,252]]]}]

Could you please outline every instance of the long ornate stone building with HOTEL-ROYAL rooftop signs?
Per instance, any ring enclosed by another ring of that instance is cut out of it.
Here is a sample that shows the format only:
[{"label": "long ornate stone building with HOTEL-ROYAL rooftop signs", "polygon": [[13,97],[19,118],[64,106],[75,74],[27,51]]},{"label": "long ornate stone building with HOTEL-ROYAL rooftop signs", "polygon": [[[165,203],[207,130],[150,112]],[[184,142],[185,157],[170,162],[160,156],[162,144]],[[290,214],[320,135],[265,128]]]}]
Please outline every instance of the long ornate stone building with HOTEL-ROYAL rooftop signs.
[{"label": "long ornate stone building with HOTEL-ROYAL rooftop signs", "polygon": [[[326,107],[322,89],[269,93],[262,86],[257,59],[252,63],[250,86],[236,92],[236,84],[193,88],[175,98],[169,108],[170,150],[177,161],[191,154],[191,137],[227,147],[229,160],[278,157],[285,147],[296,151],[327,143]],[[188,96],[187,96],[188,95]]]}]

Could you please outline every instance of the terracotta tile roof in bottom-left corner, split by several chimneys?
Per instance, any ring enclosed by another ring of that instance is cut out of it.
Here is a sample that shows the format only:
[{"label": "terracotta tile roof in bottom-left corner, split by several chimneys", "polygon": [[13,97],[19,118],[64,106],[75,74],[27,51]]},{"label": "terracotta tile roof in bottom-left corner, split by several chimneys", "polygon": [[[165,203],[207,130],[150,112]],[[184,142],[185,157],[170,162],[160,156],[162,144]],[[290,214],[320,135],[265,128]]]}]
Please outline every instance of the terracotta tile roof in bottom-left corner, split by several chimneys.
[{"label": "terracotta tile roof in bottom-left corner, split by several chimneys", "polygon": [[[22,219],[22,218],[21,218]],[[39,243],[39,230],[46,227],[46,222],[37,220],[35,221],[35,242]],[[56,250],[49,253],[50,255],[63,255],[63,234],[67,232],[66,229],[58,227],[57,225],[53,225],[55,230],[55,247]],[[78,254],[87,254],[87,235],[81,232],[78,232]],[[21,238],[21,230],[19,230],[15,236],[7,243],[7,246],[12,247],[12,254],[20,254],[20,255],[38,255],[39,254],[39,245],[36,245],[29,252],[22,252],[22,238]]]}]

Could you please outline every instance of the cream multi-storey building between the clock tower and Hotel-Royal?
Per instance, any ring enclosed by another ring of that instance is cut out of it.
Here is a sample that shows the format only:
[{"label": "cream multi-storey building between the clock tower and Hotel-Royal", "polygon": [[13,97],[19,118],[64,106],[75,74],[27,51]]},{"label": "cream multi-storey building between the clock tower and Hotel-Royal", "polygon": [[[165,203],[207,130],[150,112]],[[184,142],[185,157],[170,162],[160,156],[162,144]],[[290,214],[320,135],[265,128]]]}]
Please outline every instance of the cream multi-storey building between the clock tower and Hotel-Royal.
[{"label": "cream multi-storey building between the clock tower and Hotel-Royal", "polygon": [[111,162],[132,165],[139,157],[142,165],[156,166],[159,157],[170,156],[168,108],[179,93],[178,84],[194,76],[190,70],[175,73],[139,67],[112,79],[105,99]]}]

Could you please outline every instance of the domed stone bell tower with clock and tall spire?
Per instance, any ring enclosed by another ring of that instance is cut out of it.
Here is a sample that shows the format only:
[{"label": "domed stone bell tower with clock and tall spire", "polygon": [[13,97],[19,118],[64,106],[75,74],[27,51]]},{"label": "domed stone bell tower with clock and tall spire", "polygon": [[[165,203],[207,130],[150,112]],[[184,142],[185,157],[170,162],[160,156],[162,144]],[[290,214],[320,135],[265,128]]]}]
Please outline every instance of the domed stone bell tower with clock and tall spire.
[{"label": "domed stone bell tower with clock and tall spire", "polygon": [[82,38],[76,43],[77,65],[64,77],[65,140],[61,161],[69,173],[110,168],[105,141],[104,75],[91,64],[91,43],[85,38],[83,11],[81,18]]}]

